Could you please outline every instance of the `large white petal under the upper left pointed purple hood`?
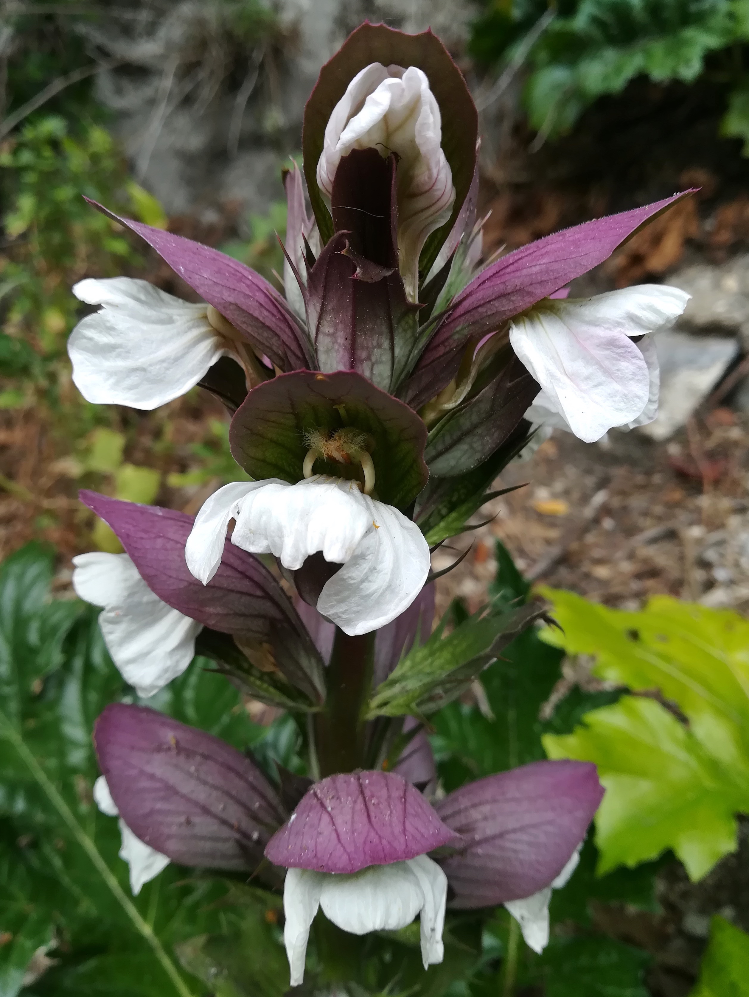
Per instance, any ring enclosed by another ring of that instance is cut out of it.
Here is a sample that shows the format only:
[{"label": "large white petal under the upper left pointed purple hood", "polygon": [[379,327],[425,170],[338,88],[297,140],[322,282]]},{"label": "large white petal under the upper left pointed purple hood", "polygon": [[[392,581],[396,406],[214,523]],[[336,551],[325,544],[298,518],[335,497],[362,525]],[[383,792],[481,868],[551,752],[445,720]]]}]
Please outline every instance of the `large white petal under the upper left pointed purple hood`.
[{"label": "large white petal under the upper left pointed purple hood", "polygon": [[89,402],[156,409],[231,354],[206,318],[207,305],[182,301],[146,280],[88,278],[73,292],[103,305],[68,340],[73,380]]}]

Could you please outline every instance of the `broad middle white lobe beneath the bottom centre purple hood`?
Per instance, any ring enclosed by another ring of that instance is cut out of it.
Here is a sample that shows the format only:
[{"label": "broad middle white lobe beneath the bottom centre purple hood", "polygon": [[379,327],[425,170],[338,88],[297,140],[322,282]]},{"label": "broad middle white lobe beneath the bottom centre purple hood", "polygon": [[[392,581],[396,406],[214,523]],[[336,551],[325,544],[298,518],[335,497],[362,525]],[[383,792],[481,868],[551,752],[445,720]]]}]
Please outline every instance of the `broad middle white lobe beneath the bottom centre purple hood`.
[{"label": "broad middle white lobe beneath the bottom centre purple hood", "polygon": [[361,872],[326,875],[320,906],[333,924],[351,934],[397,931],[422,909],[424,892],[408,862],[370,865]]}]

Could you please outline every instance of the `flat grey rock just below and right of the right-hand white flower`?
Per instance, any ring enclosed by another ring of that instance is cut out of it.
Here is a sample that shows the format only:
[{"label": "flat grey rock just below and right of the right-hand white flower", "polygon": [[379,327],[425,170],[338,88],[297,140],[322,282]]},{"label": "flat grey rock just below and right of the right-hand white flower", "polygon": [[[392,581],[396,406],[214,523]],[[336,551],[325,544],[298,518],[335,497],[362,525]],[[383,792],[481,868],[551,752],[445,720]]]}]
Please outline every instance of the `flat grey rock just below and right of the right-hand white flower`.
[{"label": "flat grey rock just below and right of the right-hand white flower", "polygon": [[694,336],[674,329],[655,333],[660,362],[660,403],[654,422],[640,430],[667,440],[686,423],[725,374],[739,352],[736,339]]}]

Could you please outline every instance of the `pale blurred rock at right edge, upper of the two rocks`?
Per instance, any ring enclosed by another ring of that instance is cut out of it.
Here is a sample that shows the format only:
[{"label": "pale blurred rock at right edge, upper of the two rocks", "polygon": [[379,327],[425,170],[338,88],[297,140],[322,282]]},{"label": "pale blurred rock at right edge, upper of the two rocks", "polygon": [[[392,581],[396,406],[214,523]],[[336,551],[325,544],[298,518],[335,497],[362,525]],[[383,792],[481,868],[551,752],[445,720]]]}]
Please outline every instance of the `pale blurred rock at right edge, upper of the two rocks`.
[{"label": "pale blurred rock at right edge, upper of the two rocks", "polygon": [[720,266],[695,263],[669,274],[667,283],[692,295],[677,328],[732,333],[749,348],[749,254]]}]

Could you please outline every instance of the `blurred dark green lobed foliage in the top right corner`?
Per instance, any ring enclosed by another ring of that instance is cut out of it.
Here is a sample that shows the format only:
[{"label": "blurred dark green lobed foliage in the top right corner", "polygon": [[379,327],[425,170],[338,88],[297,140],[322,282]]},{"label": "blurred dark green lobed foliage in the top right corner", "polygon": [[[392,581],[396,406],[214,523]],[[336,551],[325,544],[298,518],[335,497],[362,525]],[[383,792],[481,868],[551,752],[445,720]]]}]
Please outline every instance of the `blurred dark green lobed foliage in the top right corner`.
[{"label": "blurred dark green lobed foliage in the top right corner", "polygon": [[527,67],[523,105],[541,136],[568,132],[597,98],[635,77],[721,83],[721,133],[749,155],[749,42],[746,0],[490,0],[471,52],[485,65]]}]

